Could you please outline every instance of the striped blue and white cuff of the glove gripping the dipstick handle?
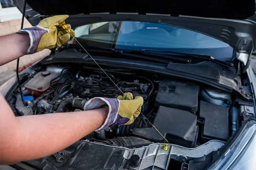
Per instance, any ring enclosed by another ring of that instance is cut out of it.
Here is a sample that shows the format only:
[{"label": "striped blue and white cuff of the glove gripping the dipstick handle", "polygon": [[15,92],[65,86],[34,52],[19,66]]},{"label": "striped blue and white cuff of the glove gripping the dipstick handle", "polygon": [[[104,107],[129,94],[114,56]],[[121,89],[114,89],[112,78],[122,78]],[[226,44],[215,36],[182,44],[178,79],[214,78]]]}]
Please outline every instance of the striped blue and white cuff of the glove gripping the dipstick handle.
[{"label": "striped blue and white cuff of the glove gripping the dipstick handle", "polygon": [[34,54],[37,52],[41,37],[44,35],[44,33],[48,31],[48,29],[41,26],[32,26],[31,28],[23,28],[22,30],[17,32],[21,34],[29,34],[30,46],[26,51],[26,54]]}]

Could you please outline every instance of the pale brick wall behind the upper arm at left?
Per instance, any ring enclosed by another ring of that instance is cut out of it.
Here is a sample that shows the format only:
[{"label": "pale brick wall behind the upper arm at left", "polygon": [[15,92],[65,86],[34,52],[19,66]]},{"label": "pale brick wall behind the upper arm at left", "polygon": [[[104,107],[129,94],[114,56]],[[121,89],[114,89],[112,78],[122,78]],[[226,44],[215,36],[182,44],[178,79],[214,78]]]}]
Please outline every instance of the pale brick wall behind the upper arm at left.
[{"label": "pale brick wall behind the upper arm at left", "polygon": [[[20,25],[21,25],[21,19],[0,23],[0,36],[15,33],[16,31],[20,30]],[[28,27],[31,27],[31,24],[25,18],[23,28],[28,28]],[[49,55],[48,49],[32,55],[25,55],[23,57],[20,57],[20,67],[27,65],[37,59],[41,59],[42,57],[46,57],[47,55]],[[17,64],[17,60],[14,60],[5,65],[0,66],[0,73],[7,70],[15,70],[16,64]]]}]

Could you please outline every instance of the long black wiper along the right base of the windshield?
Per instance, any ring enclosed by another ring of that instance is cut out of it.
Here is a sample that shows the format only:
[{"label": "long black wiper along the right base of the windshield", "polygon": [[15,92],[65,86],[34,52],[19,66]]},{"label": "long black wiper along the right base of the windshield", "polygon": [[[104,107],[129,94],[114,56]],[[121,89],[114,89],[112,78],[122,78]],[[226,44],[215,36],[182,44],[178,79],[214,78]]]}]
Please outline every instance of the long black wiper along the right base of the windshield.
[{"label": "long black wiper along the right base of the windshield", "polygon": [[[140,52],[143,54],[152,54],[152,53],[164,53],[164,54],[176,54],[178,56],[182,56],[182,57],[192,57],[192,58],[198,58],[201,59],[203,61],[210,61],[210,62],[214,62],[217,63],[219,65],[222,65],[224,67],[226,67],[228,70],[234,70],[234,64],[231,62],[225,62],[222,61],[220,59],[215,59],[212,56],[208,56],[208,55],[203,55],[203,54],[187,54],[187,53],[180,53],[180,52],[175,52],[175,51],[157,51],[157,50],[150,50],[150,49],[134,49],[134,52]],[[189,61],[189,59],[187,59]],[[191,61],[190,61],[191,62]]]}]

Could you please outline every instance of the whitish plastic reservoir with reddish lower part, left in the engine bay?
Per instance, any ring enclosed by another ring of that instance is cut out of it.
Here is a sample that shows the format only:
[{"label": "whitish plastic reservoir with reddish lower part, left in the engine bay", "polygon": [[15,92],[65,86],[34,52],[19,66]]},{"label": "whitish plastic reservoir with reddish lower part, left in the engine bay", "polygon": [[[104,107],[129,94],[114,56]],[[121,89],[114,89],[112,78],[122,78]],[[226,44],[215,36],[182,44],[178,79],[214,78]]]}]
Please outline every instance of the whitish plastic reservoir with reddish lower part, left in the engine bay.
[{"label": "whitish plastic reservoir with reddish lower part, left in the engine bay", "polygon": [[39,96],[49,89],[50,81],[56,77],[58,77],[58,74],[51,74],[49,71],[41,71],[35,74],[24,86],[30,94]]}]

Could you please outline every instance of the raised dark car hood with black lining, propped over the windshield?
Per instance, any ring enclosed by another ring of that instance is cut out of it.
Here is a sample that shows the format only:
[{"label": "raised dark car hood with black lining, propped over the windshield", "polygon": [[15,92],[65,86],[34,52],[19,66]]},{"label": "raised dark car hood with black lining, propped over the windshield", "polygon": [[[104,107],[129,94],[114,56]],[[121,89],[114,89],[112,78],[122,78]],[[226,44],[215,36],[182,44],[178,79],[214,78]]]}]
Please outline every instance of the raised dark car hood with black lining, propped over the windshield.
[{"label": "raised dark car hood with black lining, propped over the windshield", "polygon": [[[24,0],[16,0],[23,10]],[[104,21],[143,21],[161,23],[209,35],[226,42],[240,53],[256,51],[255,0],[166,1],[145,0],[68,1],[26,0],[25,17],[32,25],[50,15],[69,14],[73,28]]]}]

